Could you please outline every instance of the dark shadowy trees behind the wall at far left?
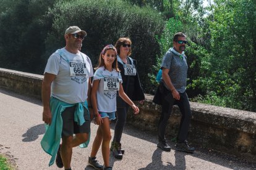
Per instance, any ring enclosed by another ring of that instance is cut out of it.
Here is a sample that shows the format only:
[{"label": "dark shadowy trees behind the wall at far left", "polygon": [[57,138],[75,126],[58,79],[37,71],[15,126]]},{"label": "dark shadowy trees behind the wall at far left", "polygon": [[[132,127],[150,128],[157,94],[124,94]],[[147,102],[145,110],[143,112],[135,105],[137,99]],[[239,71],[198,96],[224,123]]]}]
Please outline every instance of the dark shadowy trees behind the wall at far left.
[{"label": "dark shadowy trees behind the wall at far left", "polygon": [[42,73],[40,55],[51,25],[40,19],[54,1],[3,1],[0,15],[0,67]]}]

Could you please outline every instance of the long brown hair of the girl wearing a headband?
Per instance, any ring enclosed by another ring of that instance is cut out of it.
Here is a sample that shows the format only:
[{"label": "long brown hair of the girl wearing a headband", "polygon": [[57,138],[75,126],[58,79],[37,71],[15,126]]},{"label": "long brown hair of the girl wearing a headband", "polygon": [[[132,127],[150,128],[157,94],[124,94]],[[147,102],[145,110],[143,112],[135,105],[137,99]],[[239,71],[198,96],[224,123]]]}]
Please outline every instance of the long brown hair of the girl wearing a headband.
[{"label": "long brown hair of the girl wearing a headband", "polygon": [[114,51],[114,53],[115,53],[114,58],[115,59],[114,59],[114,62],[112,63],[112,68],[116,69],[116,71],[119,71],[119,68],[117,66],[117,57],[116,57],[117,51],[116,51],[116,48],[112,44],[109,44],[109,45],[105,46],[103,48],[103,50],[101,51],[100,57],[99,57],[99,60],[98,60],[98,66],[94,68],[95,70],[97,70],[98,68],[103,67],[103,66],[105,67],[105,62],[102,58],[102,55],[105,55],[106,51],[108,51],[108,50],[113,50]]}]

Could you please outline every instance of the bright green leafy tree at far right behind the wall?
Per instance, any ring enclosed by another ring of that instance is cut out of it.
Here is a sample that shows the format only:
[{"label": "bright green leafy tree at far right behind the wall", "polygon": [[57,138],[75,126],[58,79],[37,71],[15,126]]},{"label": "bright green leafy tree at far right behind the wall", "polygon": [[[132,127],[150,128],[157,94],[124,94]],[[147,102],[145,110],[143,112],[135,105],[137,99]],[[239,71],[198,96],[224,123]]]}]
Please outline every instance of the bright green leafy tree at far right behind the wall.
[{"label": "bright green leafy tree at far right behind the wall", "polygon": [[[205,102],[256,111],[256,2],[218,0],[212,8],[207,20],[211,56],[200,68],[207,76],[195,84],[207,93]],[[210,95],[216,97],[207,100]]]}]

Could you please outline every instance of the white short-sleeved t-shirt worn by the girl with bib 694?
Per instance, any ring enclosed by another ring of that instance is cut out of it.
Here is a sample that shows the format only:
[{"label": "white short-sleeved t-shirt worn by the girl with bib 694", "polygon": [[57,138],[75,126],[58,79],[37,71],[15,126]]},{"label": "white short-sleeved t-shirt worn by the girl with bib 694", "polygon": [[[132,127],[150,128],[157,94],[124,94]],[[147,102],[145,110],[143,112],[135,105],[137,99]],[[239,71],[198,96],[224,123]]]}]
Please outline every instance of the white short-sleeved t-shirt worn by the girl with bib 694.
[{"label": "white short-sleeved t-shirt worn by the girl with bib 694", "polygon": [[[122,83],[121,73],[114,69],[113,71],[108,71],[105,67],[100,67],[94,73],[93,81],[96,79],[100,79],[98,91],[96,92],[98,111],[108,113],[116,111],[117,90],[113,89],[119,86],[119,84],[114,83],[117,83],[117,81],[119,81],[118,83]],[[104,90],[104,86],[106,88],[107,84],[111,84],[112,86],[109,87],[109,90]],[[111,87],[114,88],[111,89]]]}]

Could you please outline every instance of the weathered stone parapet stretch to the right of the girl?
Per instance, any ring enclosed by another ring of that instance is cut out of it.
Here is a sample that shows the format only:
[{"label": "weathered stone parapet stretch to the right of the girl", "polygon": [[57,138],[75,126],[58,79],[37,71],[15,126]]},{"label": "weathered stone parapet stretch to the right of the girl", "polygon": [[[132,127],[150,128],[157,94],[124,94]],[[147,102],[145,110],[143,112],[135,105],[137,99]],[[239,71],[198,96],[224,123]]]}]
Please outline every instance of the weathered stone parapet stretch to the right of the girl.
[{"label": "weathered stone parapet stretch to the right of the girl", "polygon": [[[137,103],[140,108],[139,115],[134,115],[132,110],[129,110],[127,122],[143,131],[157,133],[161,106],[153,103],[152,99],[152,95],[146,95],[143,105]],[[190,102],[190,107],[192,111],[190,142],[197,146],[256,161],[255,112],[195,102]],[[179,108],[174,106],[166,129],[169,142],[177,136],[180,120]]]}]

